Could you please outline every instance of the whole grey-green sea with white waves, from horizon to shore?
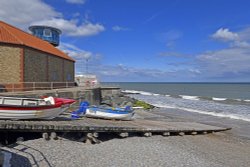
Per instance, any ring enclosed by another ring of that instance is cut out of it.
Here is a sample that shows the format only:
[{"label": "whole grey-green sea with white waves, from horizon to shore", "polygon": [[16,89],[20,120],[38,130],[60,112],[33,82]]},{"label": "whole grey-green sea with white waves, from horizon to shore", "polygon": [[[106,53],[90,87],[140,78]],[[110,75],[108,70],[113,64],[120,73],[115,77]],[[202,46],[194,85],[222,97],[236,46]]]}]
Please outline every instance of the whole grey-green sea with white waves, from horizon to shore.
[{"label": "whole grey-green sea with white waves, from horizon to shore", "polygon": [[250,83],[116,82],[129,96],[160,108],[250,122]]}]

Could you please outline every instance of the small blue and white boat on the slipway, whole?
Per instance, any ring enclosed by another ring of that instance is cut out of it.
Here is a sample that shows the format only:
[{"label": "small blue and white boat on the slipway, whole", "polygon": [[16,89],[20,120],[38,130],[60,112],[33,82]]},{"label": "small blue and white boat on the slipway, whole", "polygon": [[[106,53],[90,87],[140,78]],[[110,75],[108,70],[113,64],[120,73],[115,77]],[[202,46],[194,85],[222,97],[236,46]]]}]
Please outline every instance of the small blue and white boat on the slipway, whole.
[{"label": "small blue and white boat on the slipway, whole", "polygon": [[86,117],[103,118],[103,119],[117,119],[117,120],[131,120],[134,116],[134,111],[128,106],[122,108],[101,108],[88,107],[85,111]]}]

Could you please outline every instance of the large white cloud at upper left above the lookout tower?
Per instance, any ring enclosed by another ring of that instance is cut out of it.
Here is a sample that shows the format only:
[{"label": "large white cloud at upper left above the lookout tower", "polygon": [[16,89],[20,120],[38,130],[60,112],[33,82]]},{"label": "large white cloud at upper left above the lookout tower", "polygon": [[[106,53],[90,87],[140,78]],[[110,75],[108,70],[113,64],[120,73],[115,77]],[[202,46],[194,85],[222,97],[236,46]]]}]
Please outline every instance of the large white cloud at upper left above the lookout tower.
[{"label": "large white cloud at upper left above the lookout tower", "polygon": [[0,6],[0,20],[23,30],[34,24],[59,28],[68,36],[91,36],[105,30],[103,25],[88,20],[64,19],[62,13],[41,0],[1,0]]}]

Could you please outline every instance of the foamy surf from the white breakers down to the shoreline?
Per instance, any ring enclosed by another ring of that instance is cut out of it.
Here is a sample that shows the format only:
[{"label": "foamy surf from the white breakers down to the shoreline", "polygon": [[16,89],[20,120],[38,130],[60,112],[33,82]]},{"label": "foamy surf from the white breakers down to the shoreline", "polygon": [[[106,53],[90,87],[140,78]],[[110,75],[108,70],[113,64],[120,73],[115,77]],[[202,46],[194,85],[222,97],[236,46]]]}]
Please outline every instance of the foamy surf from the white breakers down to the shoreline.
[{"label": "foamy surf from the white breakers down to the shoreline", "polygon": [[159,95],[150,92],[130,90],[123,92],[129,93],[131,97],[145,101],[156,107],[181,109],[194,113],[250,122],[250,100],[208,98],[189,95]]}]

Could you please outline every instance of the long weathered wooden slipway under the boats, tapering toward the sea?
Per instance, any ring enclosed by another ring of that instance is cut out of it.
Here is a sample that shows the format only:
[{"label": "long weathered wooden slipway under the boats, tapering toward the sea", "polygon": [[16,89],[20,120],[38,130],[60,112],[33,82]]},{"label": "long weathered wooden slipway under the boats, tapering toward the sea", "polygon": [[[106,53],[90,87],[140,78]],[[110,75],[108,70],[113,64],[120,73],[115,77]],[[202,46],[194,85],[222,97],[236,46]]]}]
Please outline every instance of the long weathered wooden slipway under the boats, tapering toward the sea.
[{"label": "long weathered wooden slipway under the boats, tapering toward the sea", "polygon": [[0,120],[0,131],[22,131],[22,132],[136,132],[136,133],[162,133],[171,134],[197,134],[212,133],[229,130],[211,125],[195,122],[167,122],[146,119],[135,119],[132,121],[102,120],[91,118],[80,118],[71,120],[69,118],[58,118],[57,120]]}]

